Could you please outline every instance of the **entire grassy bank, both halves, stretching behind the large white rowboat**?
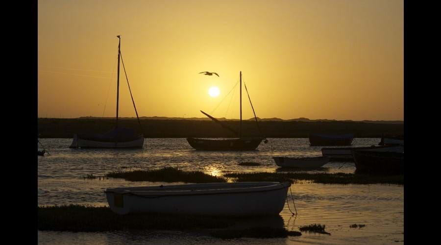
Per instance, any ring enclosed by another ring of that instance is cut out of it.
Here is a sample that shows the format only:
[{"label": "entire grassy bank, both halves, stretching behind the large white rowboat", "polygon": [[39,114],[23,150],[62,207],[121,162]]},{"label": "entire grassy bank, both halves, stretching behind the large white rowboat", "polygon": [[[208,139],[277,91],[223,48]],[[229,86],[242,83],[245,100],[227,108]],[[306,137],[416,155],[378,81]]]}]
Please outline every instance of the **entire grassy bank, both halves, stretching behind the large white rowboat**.
[{"label": "entire grassy bank, both halves, stretching behind the large white rowboat", "polygon": [[160,170],[111,172],[107,177],[123,178],[129,181],[210,183],[226,182],[231,178],[236,182],[245,181],[311,181],[321,184],[396,184],[404,185],[404,175],[375,176],[355,173],[304,173],[304,172],[257,172],[225,173],[222,177],[203,172],[185,172],[175,168]]}]

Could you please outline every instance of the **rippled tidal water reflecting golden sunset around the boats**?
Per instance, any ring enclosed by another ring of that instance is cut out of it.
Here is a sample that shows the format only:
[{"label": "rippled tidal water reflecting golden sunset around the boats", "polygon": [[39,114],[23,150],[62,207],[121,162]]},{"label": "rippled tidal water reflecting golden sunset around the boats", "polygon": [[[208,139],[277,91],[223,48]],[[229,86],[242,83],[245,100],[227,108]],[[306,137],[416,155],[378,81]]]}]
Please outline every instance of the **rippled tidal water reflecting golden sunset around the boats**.
[{"label": "rippled tidal water reflecting golden sunset around the boats", "polygon": [[[308,139],[271,138],[255,151],[197,151],[184,138],[146,139],[143,149],[70,149],[72,139],[40,139],[50,155],[38,157],[38,205],[107,205],[106,188],[179,184],[130,182],[102,178],[108,172],[175,167],[221,176],[225,172],[278,172],[274,156],[320,156],[321,147]],[[353,146],[371,146],[378,138],[356,138]],[[39,146],[41,147],[41,146]],[[260,166],[240,166],[256,162]],[[308,172],[353,173],[352,162],[329,162]],[[88,174],[96,179],[85,179]],[[39,244],[399,244],[404,242],[404,187],[296,183],[291,186],[297,216],[287,205],[276,217],[288,230],[313,223],[326,225],[331,235],[302,232],[278,239],[222,240],[183,231],[54,232],[38,231]],[[289,196],[291,195],[288,193]],[[291,206],[293,209],[293,206]],[[264,221],[266,222],[266,221]],[[276,223],[277,223],[276,222]],[[271,221],[268,221],[271,223]],[[364,224],[363,228],[350,228]]]}]

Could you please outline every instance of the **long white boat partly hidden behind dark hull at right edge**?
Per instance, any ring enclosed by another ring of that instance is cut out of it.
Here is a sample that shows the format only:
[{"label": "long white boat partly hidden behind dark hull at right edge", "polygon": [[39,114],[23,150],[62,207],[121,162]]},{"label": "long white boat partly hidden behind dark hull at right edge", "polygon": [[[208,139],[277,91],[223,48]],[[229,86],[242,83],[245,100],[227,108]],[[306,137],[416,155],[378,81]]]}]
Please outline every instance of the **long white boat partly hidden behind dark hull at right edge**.
[{"label": "long white boat partly hidden behind dark hull at right edge", "polygon": [[370,147],[332,147],[332,148],[321,148],[321,154],[323,156],[329,157],[332,161],[353,161],[352,149],[375,149],[384,151],[396,151],[400,152],[402,148],[391,147],[391,146],[370,146]]}]

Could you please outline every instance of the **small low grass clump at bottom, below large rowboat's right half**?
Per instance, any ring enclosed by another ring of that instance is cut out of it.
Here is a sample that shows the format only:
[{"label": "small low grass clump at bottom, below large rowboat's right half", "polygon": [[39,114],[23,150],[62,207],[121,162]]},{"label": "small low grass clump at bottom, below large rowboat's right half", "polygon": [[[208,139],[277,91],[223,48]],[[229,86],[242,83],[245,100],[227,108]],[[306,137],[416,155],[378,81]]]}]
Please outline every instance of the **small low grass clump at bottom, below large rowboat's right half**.
[{"label": "small low grass clump at bottom, below large rowboat's right half", "polygon": [[298,231],[288,231],[285,228],[253,227],[242,230],[223,229],[211,233],[213,237],[221,239],[235,239],[241,237],[252,238],[283,238],[288,236],[301,236]]}]

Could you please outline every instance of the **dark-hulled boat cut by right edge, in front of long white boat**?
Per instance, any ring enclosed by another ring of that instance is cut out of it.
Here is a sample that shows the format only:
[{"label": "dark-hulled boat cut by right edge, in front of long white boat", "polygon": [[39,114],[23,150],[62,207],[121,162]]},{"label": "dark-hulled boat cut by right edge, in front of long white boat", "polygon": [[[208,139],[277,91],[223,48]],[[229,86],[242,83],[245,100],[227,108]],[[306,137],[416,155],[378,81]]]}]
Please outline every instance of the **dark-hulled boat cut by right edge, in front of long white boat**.
[{"label": "dark-hulled boat cut by right edge, in front of long white boat", "polygon": [[[393,148],[393,147],[392,147]],[[402,151],[379,149],[352,149],[355,173],[361,174],[404,174],[404,147]]]}]

